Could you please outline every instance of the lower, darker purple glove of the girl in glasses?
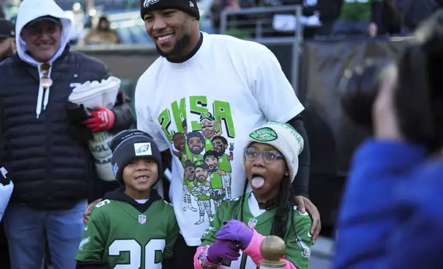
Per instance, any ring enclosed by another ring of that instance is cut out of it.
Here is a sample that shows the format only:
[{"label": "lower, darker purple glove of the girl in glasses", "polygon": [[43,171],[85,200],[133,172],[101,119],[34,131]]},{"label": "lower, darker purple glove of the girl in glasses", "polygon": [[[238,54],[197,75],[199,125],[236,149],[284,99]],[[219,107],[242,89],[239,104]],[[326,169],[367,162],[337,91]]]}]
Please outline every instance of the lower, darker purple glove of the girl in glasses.
[{"label": "lower, darker purple glove of the girl in glasses", "polygon": [[240,257],[240,249],[232,241],[215,240],[208,248],[206,256],[213,264],[219,264],[222,261],[237,261]]}]

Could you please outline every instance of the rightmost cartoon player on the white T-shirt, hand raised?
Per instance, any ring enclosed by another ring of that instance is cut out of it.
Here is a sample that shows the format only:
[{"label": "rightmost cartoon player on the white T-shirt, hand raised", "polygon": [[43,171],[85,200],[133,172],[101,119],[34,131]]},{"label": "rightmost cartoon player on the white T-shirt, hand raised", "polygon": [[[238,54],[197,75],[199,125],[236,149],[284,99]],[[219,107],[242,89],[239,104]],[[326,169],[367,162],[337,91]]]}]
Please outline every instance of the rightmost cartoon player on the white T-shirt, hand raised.
[{"label": "rightmost cartoon player on the white T-shirt, hand raised", "polygon": [[[229,155],[226,154],[226,150],[228,149],[228,140],[226,138],[217,136],[213,137],[212,140],[214,152],[219,156],[219,169],[225,172],[224,176],[222,176],[224,183],[224,192],[226,192],[226,199],[231,198],[231,190],[230,190],[230,182],[231,182],[231,172],[233,171],[230,166],[230,162],[234,160],[234,143],[230,143],[229,147]],[[225,191],[226,189],[226,191]]]}]

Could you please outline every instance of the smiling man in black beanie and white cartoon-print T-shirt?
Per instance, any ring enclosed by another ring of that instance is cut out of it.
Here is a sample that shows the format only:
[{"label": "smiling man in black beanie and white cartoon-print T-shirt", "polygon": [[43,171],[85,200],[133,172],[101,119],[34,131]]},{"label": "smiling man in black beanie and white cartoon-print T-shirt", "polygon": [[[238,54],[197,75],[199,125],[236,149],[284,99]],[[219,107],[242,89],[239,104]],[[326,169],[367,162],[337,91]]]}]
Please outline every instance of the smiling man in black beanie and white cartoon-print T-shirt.
[{"label": "smiling man in black beanie and white cartoon-print T-shirt", "polygon": [[259,43],[200,32],[195,0],[145,0],[141,16],[161,57],[138,80],[137,127],[173,154],[169,196],[184,237],[174,253],[180,268],[193,268],[219,203],[243,194],[241,152],[250,131],[268,120],[290,124],[305,141],[293,194],[312,216],[314,242],[320,219],[306,198],[304,108],[274,54]]}]

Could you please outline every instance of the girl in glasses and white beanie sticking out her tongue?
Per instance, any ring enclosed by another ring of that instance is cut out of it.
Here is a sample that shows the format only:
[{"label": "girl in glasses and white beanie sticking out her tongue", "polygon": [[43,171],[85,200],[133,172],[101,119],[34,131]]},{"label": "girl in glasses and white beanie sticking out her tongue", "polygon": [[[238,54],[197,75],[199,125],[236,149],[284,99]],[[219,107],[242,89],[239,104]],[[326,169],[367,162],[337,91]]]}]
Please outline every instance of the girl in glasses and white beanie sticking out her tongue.
[{"label": "girl in glasses and white beanie sticking out her tongue", "polygon": [[263,259],[260,244],[269,235],[286,244],[285,269],[309,267],[312,220],[297,209],[290,188],[302,150],[303,139],[288,124],[270,121],[249,134],[244,195],[220,204],[197,248],[194,268],[256,269]]}]

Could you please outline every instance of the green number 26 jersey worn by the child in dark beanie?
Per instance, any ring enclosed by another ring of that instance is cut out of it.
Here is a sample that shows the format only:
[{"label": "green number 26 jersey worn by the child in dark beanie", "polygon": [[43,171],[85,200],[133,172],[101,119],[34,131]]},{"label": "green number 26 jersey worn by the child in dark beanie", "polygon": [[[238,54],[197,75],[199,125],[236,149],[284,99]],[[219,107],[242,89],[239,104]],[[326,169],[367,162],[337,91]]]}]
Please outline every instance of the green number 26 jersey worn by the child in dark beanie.
[{"label": "green number 26 jersey worn by the child in dark beanie", "polygon": [[144,213],[127,202],[103,200],[91,211],[76,260],[109,268],[162,268],[162,259],[172,258],[178,233],[173,207],[164,200]]}]

